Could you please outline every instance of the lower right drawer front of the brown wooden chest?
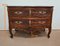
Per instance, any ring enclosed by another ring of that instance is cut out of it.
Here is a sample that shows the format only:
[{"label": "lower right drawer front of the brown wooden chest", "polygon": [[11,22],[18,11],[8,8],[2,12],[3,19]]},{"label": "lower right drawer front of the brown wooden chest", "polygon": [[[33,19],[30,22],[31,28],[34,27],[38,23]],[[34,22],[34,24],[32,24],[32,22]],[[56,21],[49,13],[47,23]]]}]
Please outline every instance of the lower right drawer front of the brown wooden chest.
[{"label": "lower right drawer front of the brown wooden chest", "polygon": [[42,19],[42,20],[31,20],[32,26],[49,26],[50,21],[48,19]]}]

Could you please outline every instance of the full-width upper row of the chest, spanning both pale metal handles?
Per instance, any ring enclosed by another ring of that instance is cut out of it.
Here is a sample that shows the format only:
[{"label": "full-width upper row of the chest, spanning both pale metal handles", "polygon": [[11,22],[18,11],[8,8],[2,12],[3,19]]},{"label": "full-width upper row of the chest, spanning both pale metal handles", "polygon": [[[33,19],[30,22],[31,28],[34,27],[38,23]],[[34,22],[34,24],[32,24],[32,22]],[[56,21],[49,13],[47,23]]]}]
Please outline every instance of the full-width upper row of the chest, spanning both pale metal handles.
[{"label": "full-width upper row of the chest, spanning both pale metal handles", "polygon": [[8,14],[12,17],[49,18],[52,7],[8,7]]}]

